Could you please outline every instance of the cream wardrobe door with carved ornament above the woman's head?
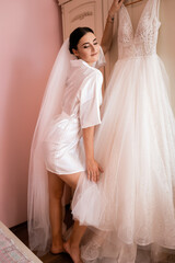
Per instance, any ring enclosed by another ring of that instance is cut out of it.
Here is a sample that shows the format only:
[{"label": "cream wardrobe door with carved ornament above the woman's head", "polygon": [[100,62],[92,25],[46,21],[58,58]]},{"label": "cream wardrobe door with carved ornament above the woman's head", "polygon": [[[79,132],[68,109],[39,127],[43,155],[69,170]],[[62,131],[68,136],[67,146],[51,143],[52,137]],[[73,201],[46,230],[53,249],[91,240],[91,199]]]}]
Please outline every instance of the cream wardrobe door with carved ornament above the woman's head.
[{"label": "cream wardrobe door with carved ornament above the woman's head", "polygon": [[72,0],[62,5],[63,38],[78,26],[94,30],[101,41],[103,32],[102,0]]}]

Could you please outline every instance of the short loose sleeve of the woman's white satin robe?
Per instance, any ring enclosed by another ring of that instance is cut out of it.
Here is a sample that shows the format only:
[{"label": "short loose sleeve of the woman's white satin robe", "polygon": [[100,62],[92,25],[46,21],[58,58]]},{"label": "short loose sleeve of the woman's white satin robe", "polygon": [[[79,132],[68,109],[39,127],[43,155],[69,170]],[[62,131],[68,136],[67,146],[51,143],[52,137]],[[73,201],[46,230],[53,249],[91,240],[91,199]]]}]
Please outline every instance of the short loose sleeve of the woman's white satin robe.
[{"label": "short loose sleeve of the woman's white satin robe", "polygon": [[98,70],[85,78],[80,94],[80,123],[82,128],[101,124],[103,76]]}]

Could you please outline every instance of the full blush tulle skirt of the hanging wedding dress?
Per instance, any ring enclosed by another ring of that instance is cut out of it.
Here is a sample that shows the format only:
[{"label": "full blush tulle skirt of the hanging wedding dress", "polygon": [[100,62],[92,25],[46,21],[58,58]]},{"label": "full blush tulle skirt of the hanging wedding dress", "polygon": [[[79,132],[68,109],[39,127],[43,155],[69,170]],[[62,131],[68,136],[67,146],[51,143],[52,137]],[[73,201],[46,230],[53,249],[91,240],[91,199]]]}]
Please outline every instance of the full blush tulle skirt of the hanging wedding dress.
[{"label": "full blush tulle skirt of the hanging wedding dress", "polygon": [[175,248],[175,119],[167,87],[156,55],[114,67],[95,137],[104,173],[97,184],[82,174],[72,203],[74,218],[112,244]]}]

